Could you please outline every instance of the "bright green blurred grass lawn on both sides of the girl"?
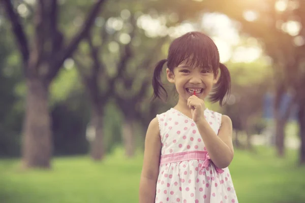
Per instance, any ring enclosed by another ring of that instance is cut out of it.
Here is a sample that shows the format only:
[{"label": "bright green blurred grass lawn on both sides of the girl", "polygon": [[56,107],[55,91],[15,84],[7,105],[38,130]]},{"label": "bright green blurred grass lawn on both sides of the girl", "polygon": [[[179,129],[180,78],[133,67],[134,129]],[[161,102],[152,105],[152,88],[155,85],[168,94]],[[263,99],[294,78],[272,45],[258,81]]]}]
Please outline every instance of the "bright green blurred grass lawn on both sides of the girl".
[{"label": "bright green blurred grass lawn on both sides of the girl", "polygon": [[[230,171],[241,203],[305,202],[305,167],[297,154],[277,159],[271,149],[235,151]],[[142,156],[128,160],[121,150],[103,162],[88,157],[56,158],[51,171],[22,172],[18,160],[0,160],[1,203],[138,202]]]}]

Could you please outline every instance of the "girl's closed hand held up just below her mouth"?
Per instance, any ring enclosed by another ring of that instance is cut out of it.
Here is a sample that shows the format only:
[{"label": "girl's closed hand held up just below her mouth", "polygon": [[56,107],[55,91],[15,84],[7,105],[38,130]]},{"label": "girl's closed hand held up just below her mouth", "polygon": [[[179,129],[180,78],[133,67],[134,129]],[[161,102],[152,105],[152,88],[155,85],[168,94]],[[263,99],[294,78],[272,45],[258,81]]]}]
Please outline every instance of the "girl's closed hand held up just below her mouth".
[{"label": "girl's closed hand held up just below her mouth", "polygon": [[191,109],[194,122],[198,122],[204,118],[205,104],[204,100],[192,95],[188,98],[188,107]]}]

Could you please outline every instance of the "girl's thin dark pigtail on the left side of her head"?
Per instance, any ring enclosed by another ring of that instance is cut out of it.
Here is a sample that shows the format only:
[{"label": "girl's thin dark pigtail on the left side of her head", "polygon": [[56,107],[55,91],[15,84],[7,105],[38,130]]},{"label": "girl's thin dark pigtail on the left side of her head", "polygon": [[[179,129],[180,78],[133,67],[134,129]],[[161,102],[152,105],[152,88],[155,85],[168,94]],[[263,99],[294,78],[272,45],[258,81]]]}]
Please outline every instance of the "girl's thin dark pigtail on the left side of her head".
[{"label": "girl's thin dark pigtail on the left side of her head", "polygon": [[166,62],[167,59],[160,60],[155,67],[154,76],[153,76],[153,88],[154,88],[153,100],[156,99],[157,97],[161,98],[160,88],[165,92],[167,97],[167,92],[161,82],[161,72],[164,63]]}]

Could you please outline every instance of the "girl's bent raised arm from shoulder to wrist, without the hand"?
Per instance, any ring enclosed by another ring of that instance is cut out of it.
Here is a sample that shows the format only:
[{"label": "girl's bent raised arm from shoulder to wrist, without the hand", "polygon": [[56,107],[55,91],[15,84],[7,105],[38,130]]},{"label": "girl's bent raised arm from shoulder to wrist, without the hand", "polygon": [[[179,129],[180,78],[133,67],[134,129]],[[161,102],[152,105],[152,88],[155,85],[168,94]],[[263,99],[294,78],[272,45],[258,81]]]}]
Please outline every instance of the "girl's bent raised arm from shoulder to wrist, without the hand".
[{"label": "girl's bent raised arm from shoulder to wrist, without the hand", "polygon": [[228,167],[234,156],[231,119],[222,116],[218,136],[205,119],[196,124],[211,160],[219,168]]}]

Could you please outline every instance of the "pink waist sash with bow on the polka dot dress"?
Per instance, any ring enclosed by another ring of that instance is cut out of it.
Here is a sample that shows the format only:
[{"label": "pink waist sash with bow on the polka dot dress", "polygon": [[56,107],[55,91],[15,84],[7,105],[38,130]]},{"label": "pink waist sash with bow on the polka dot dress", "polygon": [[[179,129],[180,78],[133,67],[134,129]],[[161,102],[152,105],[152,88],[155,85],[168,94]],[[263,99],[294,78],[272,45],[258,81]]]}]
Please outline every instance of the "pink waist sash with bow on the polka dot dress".
[{"label": "pink waist sash with bow on the polka dot dress", "polygon": [[[207,153],[207,151],[189,151],[189,152],[179,152],[179,153],[172,153],[172,154],[165,154],[161,155],[160,165],[166,163],[175,163],[181,161],[188,161],[188,160],[204,160],[203,164],[201,165],[200,170],[203,170],[205,167],[208,167],[212,161]],[[216,167],[217,173],[223,173],[224,170],[221,168]]]}]

